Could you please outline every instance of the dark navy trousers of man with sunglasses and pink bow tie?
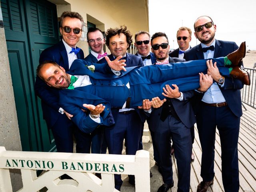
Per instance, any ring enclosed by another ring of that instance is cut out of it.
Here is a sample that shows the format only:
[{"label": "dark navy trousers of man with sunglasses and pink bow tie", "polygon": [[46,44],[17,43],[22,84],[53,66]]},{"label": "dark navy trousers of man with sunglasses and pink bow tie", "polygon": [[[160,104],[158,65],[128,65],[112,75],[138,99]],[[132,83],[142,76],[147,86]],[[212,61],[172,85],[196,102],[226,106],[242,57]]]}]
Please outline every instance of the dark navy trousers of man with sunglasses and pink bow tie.
[{"label": "dark navy trousers of man with sunglasses and pink bow tie", "polygon": [[172,184],[172,159],[171,143],[174,144],[175,158],[178,167],[178,192],[189,192],[190,190],[190,163],[192,142],[190,128],[187,128],[180,120],[169,115],[164,122],[159,121],[155,132],[156,146],[158,148],[160,166],[163,181]]}]

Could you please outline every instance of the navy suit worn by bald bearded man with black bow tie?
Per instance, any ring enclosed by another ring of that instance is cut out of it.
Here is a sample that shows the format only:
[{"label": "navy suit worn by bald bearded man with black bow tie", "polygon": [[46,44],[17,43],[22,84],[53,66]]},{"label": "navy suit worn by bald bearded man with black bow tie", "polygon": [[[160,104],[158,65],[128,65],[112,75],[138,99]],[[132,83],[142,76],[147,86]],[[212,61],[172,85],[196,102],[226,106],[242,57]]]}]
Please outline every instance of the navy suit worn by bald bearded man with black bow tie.
[{"label": "navy suit worn by bald bearded man with black bow tie", "polygon": [[[226,56],[238,49],[235,42],[216,40],[214,58]],[[184,54],[186,60],[203,59],[201,44],[193,47]],[[220,86],[219,86],[220,87]],[[214,178],[214,143],[216,126],[220,134],[222,150],[222,181],[226,192],[239,190],[238,171],[238,134],[242,103],[240,89],[243,84],[240,80],[225,76],[224,87],[220,87],[227,106],[211,107],[203,105],[198,98],[196,106],[196,124],[202,146],[201,176],[204,181]]]}]

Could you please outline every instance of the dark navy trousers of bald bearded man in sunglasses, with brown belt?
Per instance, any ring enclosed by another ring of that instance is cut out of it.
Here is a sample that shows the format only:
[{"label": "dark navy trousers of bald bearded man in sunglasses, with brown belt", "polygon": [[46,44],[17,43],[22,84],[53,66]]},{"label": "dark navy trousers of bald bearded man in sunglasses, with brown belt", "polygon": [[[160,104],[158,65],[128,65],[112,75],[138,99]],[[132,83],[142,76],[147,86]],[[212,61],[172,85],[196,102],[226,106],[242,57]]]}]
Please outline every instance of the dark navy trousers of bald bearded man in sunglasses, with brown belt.
[{"label": "dark navy trousers of bald bearded man in sunglasses, with brown belt", "polygon": [[200,104],[197,127],[202,147],[201,177],[204,181],[214,178],[214,144],[216,126],[220,134],[222,182],[225,192],[238,192],[238,135],[240,117],[228,106],[212,107]]}]

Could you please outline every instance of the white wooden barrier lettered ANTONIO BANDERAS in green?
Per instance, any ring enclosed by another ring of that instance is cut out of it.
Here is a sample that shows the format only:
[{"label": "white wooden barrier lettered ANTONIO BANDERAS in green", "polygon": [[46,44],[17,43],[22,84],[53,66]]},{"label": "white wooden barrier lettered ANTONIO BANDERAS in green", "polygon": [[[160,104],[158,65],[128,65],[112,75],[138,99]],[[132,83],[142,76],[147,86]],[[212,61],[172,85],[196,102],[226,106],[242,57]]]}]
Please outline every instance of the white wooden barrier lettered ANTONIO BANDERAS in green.
[{"label": "white wooden barrier lettered ANTONIO BANDERAS in green", "polygon": [[[20,169],[18,192],[117,192],[114,174],[135,176],[135,191],[150,192],[149,152],[136,155],[6,151],[0,147],[0,192],[12,192],[9,169]],[[36,170],[44,170],[36,176]],[[100,180],[92,173],[101,173]],[[73,179],[60,180],[67,174]]]}]

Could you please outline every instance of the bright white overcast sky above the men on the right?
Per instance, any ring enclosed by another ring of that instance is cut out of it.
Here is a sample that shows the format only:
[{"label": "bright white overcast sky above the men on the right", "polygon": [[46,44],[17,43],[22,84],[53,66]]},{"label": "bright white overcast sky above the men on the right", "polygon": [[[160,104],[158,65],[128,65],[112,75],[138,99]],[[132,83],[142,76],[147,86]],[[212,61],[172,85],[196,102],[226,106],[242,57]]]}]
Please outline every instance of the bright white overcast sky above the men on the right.
[{"label": "bright white overcast sky above the men on the right", "polygon": [[208,15],[216,24],[216,39],[234,41],[238,46],[246,41],[247,49],[256,50],[256,0],[148,1],[150,34],[165,32],[170,48],[178,48],[176,33],[181,26],[192,30],[190,45],[199,44],[193,25],[196,18]]}]

